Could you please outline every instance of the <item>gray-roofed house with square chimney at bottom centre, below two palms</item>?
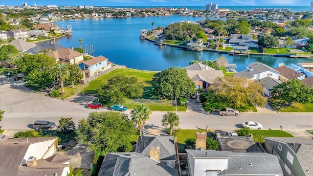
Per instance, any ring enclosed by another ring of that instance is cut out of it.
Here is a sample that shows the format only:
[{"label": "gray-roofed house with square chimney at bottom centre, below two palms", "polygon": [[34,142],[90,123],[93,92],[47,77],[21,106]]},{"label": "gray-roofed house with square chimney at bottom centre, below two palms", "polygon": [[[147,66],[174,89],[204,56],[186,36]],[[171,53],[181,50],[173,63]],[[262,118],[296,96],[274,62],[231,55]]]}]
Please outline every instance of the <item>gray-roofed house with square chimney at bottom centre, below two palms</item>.
[{"label": "gray-roofed house with square chimney at bottom centre, below two palms", "polygon": [[134,152],[107,153],[98,176],[178,176],[173,136],[138,136]]}]

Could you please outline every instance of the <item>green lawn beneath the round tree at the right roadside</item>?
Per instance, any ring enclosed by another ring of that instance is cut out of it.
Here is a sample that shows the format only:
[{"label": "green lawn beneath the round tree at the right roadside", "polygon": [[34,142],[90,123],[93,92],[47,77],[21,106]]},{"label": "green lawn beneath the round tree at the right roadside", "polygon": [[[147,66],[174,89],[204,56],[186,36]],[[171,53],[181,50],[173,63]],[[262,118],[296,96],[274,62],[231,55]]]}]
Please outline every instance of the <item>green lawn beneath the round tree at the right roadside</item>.
[{"label": "green lawn beneath the round tree at the right roadside", "polygon": [[283,100],[274,100],[270,98],[268,105],[278,111],[278,107],[281,107],[281,112],[313,112],[313,103],[292,103],[291,106]]}]

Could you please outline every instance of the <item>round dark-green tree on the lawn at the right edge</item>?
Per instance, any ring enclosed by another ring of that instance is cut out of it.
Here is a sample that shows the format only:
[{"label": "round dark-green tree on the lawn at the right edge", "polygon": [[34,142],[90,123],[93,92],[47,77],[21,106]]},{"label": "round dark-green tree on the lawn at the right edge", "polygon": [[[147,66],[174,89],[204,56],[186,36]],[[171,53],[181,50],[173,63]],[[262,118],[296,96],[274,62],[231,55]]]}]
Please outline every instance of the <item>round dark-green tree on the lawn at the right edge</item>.
[{"label": "round dark-green tree on the lawn at the right edge", "polygon": [[292,103],[311,103],[313,102],[313,90],[298,79],[283,82],[274,87],[273,97],[282,99],[291,106]]}]

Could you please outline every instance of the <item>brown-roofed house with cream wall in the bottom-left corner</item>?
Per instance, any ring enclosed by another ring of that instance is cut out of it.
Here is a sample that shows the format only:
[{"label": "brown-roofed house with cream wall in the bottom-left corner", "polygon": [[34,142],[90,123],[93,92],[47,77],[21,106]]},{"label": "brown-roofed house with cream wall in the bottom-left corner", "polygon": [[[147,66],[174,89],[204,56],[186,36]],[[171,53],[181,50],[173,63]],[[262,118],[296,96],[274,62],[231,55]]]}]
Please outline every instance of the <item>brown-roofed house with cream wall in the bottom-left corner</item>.
[{"label": "brown-roofed house with cream wall in the bottom-left corner", "polygon": [[1,176],[67,176],[69,160],[55,154],[58,137],[1,140]]}]

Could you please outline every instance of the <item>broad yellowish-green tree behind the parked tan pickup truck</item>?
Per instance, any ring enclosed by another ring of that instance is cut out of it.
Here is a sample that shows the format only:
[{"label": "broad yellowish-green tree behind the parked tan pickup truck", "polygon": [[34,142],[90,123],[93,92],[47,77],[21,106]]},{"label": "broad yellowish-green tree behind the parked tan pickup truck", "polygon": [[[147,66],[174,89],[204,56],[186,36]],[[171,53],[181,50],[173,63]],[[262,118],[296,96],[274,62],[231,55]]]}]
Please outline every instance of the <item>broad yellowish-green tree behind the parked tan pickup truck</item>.
[{"label": "broad yellowish-green tree behind the parked tan pickup truck", "polygon": [[235,108],[254,104],[263,107],[266,104],[262,85],[256,82],[247,83],[246,78],[236,76],[217,78],[208,91],[213,92],[212,98],[227,102],[229,106]]}]

